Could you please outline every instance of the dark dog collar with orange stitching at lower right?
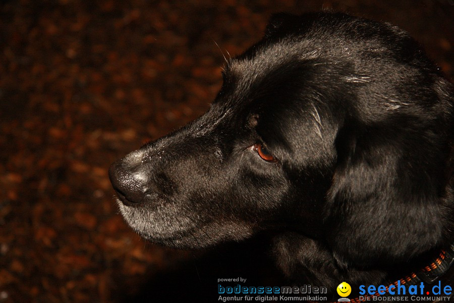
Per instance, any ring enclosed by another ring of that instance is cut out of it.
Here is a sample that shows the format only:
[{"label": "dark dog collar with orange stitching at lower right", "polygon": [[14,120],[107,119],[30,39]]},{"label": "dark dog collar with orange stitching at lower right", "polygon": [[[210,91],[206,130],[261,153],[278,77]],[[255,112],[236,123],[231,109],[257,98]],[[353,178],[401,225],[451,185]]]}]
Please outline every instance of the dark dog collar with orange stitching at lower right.
[{"label": "dark dog collar with orange stitching at lower right", "polygon": [[[452,263],[454,263],[454,244],[449,245],[449,247],[447,247],[446,249],[442,249],[439,254],[434,259],[432,259],[430,264],[424,266],[419,271],[412,272],[411,274],[400,280],[389,283],[386,287],[385,293],[380,294],[377,291],[372,295],[361,296],[361,299],[359,297],[350,299],[350,302],[361,303],[365,301],[371,301],[373,299],[372,297],[374,296],[381,297],[381,300],[383,300],[384,297],[391,297],[392,295],[388,292],[389,287],[392,285],[397,287],[398,282],[400,282],[401,285],[406,285],[407,287],[411,285],[419,285],[421,284],[421,282],[424,282],[428,285],[433,284],[448,271]],[[384,285],[386,285],[386,283],[384,283]],[[331,303],[337,303],[337,301],[333,301]]]}]

